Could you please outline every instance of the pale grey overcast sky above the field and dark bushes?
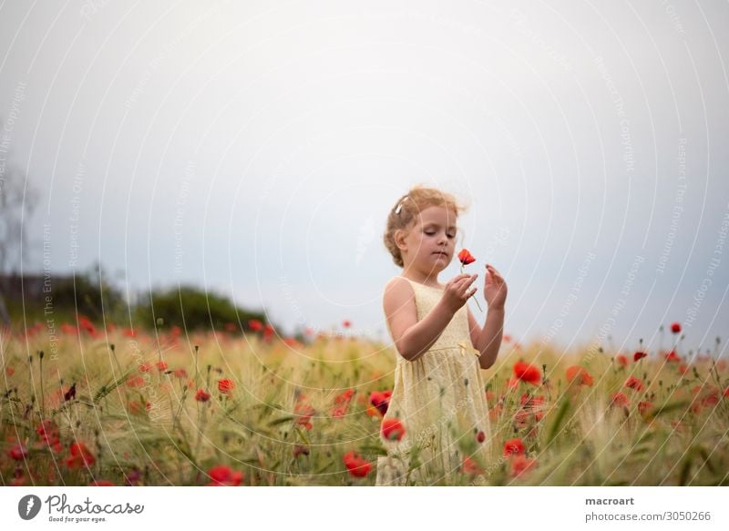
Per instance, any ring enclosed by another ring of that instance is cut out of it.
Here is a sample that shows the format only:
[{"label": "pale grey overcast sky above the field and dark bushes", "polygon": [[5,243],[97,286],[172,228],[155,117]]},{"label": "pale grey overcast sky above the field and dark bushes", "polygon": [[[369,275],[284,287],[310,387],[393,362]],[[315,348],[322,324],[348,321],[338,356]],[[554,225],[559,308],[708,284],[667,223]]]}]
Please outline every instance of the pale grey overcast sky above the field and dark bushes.
[{"label": "pale grey overcast sky above the field and dark bushes", "polygon": [[725,339],[726,2],[243,4],[0,5],[26,272],[48,223],[56,273],[384,339],[386,215],[424,183],[469,205],[522,341]]}]

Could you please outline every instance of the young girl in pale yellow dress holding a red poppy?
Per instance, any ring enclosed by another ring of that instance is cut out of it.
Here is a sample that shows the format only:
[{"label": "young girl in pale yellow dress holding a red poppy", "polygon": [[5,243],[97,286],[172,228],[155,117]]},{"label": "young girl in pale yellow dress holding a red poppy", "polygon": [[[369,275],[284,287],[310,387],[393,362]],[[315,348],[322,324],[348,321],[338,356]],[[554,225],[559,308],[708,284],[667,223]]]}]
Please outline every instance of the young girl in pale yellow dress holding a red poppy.
[{"label": "young girl in pale yellow dress holding a red poppy", "polygon": [[[481,369],[496,361],[507,285],[490,265],[484,275],[488,316],[483,330],[467,307],[477,274],[441,284],[438,273],[456,254],[456,199],[416,187],[387,218],[385,247],[403,268],[385,286],[383,308],[395,343],[395,386],[383,422],[405,434],[385,439],[375,485],[448,484],[488,462],[488,404]],[[384,424],[385,425],[385,424]],[[395,432],[396,434],[396,432]]]}]

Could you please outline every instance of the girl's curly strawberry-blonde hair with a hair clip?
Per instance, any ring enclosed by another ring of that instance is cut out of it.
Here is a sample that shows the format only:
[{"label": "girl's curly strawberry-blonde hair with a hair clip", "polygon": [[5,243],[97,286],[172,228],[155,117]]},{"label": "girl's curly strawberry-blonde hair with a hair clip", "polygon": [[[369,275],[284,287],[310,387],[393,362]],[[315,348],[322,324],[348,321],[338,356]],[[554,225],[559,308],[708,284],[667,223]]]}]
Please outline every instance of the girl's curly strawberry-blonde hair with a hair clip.
[{"label": "girl's curly strawberry-blonde hair with a hair clip", "polygon": [[417,215],[428,207],[444,207],[453,210],[456,217],[467,209],[467,206],[458,203],[452,194],[439,189],[426,188],[423,185],[416,185],[397,199],[395,206],[390,209],[390,214],[387,216],[387,225],[383,235],[385,247],[390,251],[395,265],[405,267],[403,255],[395,244],[395,232],[397,230],[408,231],[409,226],[415,223]]}]

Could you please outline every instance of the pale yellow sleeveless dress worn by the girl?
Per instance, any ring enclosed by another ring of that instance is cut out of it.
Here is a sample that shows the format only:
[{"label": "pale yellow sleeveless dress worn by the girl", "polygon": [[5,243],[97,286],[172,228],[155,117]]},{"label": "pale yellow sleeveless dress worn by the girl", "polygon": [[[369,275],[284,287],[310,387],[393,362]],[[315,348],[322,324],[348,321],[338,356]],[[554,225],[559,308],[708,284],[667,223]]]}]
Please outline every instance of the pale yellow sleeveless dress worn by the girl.
[{"label": "pale yellow sleeveless dress worn by the girl", "polygon": [[[443,289],[407,281],[415,292],[421,321],[443,296]],[[488,462],[491,433],[486,389],[479,352],[468,330],[464,305],[415,361],[395,351],[395,383],[383,420],[400,420],[406,434],[400,441],[383,439],[387,455],[377,458],[375,485],[450,485],[464,462],[459,444],[472,458]],[[387,331],[392,337],[389,324]],[[479,432],[483,435],[478,436]],[[483,479],[480,473],[483,470],[471,477]]]}]

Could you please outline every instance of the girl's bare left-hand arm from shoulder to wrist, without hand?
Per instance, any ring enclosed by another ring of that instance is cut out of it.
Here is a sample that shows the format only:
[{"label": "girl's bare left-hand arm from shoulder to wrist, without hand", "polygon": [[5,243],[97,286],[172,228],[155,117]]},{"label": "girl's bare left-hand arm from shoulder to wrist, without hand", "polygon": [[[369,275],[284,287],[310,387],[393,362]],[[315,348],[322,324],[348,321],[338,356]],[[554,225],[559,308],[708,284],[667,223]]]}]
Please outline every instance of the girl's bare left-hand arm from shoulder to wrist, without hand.
[{"label": "girl's bare left-hand arm from shoulder to wrist, without hand", "polygon": [[436,342],[453,319],[453,311],[440,301],[417,321],[413,287],[406,279],[395,278],[385,287],[383,309],[395,348],[408,362],[414,362]]}]

